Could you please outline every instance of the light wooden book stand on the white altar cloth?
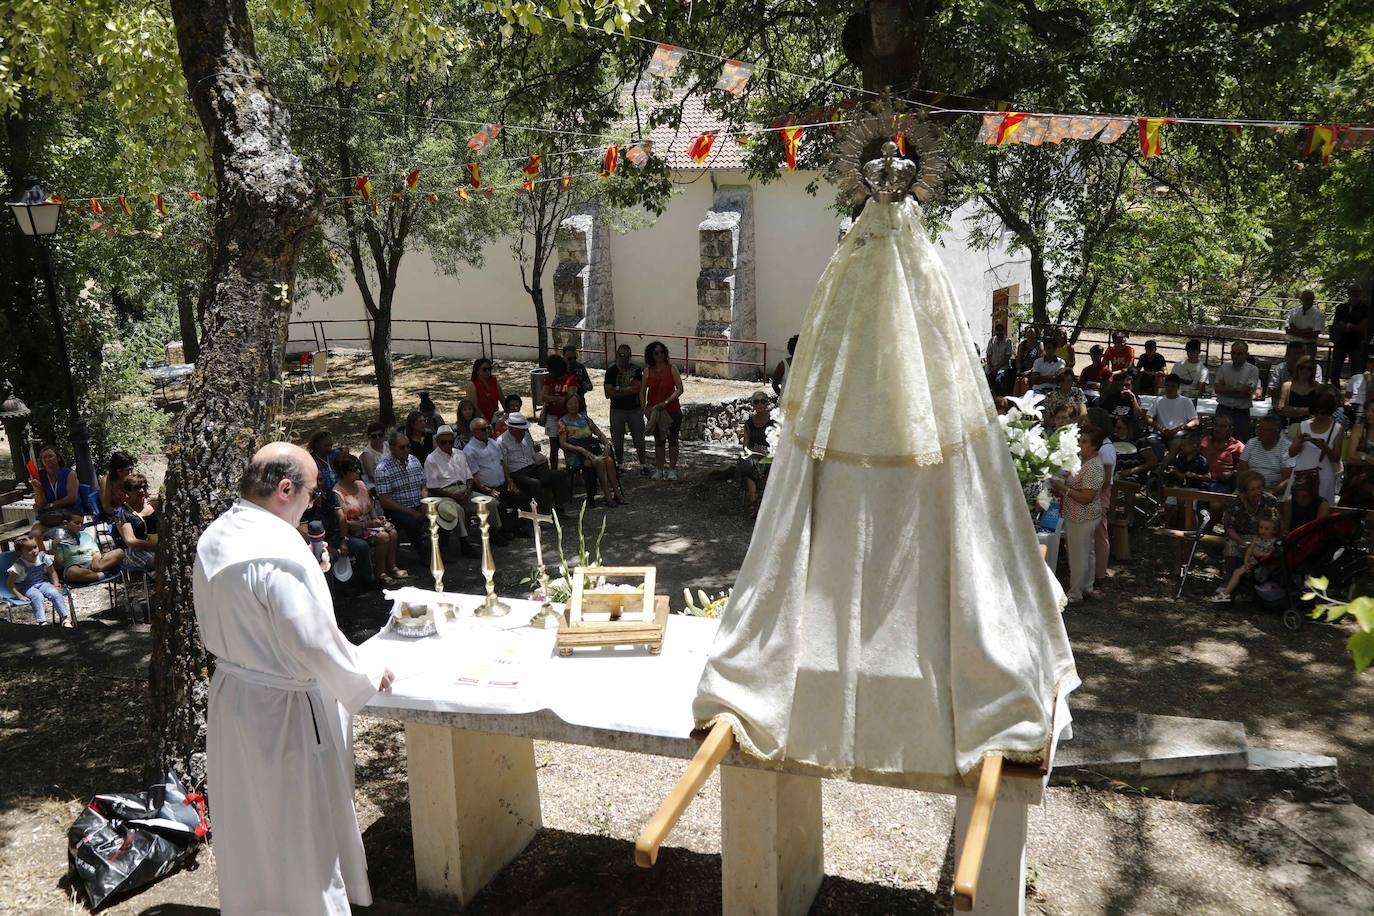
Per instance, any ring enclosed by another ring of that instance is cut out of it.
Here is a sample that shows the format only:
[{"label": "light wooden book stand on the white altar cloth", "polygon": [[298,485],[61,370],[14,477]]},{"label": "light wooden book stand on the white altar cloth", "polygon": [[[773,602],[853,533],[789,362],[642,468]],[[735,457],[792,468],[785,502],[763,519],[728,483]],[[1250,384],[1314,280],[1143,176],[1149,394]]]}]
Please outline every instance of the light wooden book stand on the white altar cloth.
[{"label": "light wooden book stand on the white altar cloth", "polygon": [[[668,596],[654,595],[654,574],[653,566],[580,566],[573,570],[573,596],[567,603],[567,621],[558,628],[558,654],[567,656],[574,648],[591,645],[647,645],[650,655],[658,655],[668,628]],[[639,575],[644,588],[642,592],[588,589],[588,575]],[[585,614],[606,617],[587,619]]]}]

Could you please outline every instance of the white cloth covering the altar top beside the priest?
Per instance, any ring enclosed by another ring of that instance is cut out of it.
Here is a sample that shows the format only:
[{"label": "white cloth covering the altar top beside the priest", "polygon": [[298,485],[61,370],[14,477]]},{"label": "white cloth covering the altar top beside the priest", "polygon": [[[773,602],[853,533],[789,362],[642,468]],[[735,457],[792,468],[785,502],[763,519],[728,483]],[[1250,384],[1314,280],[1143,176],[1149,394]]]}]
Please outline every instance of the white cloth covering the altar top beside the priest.
[{"label": "white cloth covering the altar top beside the priest", "polygon": [[[433,600],[404,589],[403,600]],[[370,706],[433,713],[519,715],[550,710],[569,725],[638,735],[687,737],[691,703],[716,636],[717,621],[672,614],[660,655],[644,647],[554,650],[554,630],[525,626],[536,602],[504,597],[511,612],[473,617],[480,595],[445,593],[458,621],[440,622],[436,636],[409,639],[383,629],[363,643],[364,658],[381,658],[396,673],[390,694]]]}]

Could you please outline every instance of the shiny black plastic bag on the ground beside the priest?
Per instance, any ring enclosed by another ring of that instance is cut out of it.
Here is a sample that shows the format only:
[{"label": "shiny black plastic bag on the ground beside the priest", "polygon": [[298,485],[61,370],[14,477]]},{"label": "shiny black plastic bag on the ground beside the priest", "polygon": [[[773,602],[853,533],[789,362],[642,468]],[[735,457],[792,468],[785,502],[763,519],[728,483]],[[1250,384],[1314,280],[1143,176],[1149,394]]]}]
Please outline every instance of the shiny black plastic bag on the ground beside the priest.
[{"label": "shiny black plastic bag on the ground beside the priest", "polygon": [[209,831],[205,798],[170,772],[146,792],[96,795],[67,829],[73,883],[99,909],[170,875]]}]

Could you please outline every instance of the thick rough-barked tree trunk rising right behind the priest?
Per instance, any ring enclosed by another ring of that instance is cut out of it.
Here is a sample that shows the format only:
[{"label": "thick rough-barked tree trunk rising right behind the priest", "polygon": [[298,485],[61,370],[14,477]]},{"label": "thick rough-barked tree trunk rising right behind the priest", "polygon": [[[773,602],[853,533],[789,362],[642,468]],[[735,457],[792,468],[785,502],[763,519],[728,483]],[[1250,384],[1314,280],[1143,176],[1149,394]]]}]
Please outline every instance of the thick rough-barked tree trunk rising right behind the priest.
[{"label": "thick rough-barked tree trunk rising right behind the priest", "polygon": [[205,342],[168,453],[150,663],[153,765],[199,784],[210,656],[195,622],[195,545],[238,496],[280,398],[290,293],[320,196],[257,63],[246,0],[172,0],[181,70],[214,162]]}]

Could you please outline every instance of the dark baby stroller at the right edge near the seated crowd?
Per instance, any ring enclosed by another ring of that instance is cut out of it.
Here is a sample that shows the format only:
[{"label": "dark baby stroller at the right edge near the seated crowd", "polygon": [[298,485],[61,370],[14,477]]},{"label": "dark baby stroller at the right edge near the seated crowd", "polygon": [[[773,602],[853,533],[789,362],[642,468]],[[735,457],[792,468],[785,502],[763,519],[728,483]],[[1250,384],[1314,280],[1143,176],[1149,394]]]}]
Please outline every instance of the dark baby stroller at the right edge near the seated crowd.
[{"label": "dark baby stroller at the right edge near the seated crowd", "polygon": [[1369,569],[1360,544],[1364,538],[1364,515],[1333,512],[1301,525],[1283,538],[1279,551],[1278,574],[1254,585],[1254,597],[1261,607],[1279,611],[1283,626],[1297,630],[1307,617],[1301,600],[1309,575],[1330,580],[1330,595],[1347,595]]}]

